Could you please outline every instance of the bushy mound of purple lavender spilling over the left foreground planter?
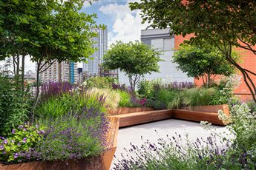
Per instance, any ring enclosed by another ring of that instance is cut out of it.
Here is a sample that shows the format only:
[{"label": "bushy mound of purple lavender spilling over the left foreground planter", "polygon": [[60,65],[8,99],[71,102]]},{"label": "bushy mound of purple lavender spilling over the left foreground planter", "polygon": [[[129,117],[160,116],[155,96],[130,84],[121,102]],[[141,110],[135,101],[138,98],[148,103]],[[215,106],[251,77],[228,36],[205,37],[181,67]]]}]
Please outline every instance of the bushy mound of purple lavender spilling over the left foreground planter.
[{"label": "bushy mound of purple lavender spilling over the left foreground planter", "polygon": [[67,160],[100,154],[106,146],[108,119],[96,108],[84,107],[55,119],[39,120],[47,127],[33,154],[38,160]]}]

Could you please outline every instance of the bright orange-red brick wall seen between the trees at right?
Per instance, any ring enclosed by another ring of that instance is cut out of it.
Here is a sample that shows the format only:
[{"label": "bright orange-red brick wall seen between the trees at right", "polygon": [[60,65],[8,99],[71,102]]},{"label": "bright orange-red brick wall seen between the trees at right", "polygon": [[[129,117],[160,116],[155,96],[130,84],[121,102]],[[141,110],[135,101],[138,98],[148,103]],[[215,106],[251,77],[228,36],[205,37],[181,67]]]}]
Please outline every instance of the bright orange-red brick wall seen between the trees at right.
[{"label": "bright orange-red brick wall seen between the trees at right", "polygon": [[[180,44],[183,43],[184,40],[188,40],[189,38],[191,38],[193,36],[194,35],[187,35],[186,37],[183,37],[182,35],[175,35],[175,37],[174,37],[175,38],[175,50],[179,49]],[[248,50],[243,50],[241,48],[235,48],[234,50],[237,50],[237,52],[241,56],[240,66],[256,73],[256,55],[254,55],[252,52],[250,52]],[[237,74],[241,75],[239,70],[237,70]],[[218,76],[217,78],[220,78],[220,76]],[[217,79],[217,78],[215,78],[215,79]],[[256,85],[256,76],[251,75],[251,78],[252,78],[252,81]],[[199,80],[194,79],[194,83],[197,84],[197,86],[200,86],[203,84],[203,80],[202,79],[199,79]],[[243,78],[241,79],[240,86],[234,90],[234,93],[241,94],[239,96],[243,100],[252,99],[252,97],[250,96],[249,89],[246,86],[246,84],[244,83]]]}]

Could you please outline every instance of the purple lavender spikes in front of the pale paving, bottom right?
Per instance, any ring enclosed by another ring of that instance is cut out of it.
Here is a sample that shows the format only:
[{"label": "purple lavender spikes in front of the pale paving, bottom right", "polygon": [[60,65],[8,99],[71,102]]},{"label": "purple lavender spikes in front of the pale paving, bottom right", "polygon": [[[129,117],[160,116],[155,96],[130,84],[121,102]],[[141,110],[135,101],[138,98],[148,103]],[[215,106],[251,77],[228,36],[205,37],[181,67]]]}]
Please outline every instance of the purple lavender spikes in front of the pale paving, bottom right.
[{"label": "purple lavender spikes in front of the pale paving, bottom right", "polygon": [[[131,143],[128,154],[115,164],[114,169],[221,169],[235,168],[232,162],[226,162],[228,150],[232,147],[229,141],[217,142],[211,135],[206,140],[197,138],[191,141],[186,136],[159,138],[157,144],[148,140],[142,146]],[[219,147],[222,146],[222,147]]]}]

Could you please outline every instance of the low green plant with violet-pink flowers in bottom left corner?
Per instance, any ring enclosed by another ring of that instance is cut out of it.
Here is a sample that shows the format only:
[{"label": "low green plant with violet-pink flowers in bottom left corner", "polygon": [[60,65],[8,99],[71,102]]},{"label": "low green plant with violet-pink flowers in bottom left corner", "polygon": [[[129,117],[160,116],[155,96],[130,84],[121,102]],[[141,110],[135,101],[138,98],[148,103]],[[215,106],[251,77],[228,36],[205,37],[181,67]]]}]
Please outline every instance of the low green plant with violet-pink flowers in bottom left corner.
[{"label": "low green plant with violet-pink flowers in bottom left corner", "polygon": [[25,155],[43,139],[45,131],[39,126],[24,124],[11,132],[7,138],[0,138],[1,163],[20,163],[26,160]]}]

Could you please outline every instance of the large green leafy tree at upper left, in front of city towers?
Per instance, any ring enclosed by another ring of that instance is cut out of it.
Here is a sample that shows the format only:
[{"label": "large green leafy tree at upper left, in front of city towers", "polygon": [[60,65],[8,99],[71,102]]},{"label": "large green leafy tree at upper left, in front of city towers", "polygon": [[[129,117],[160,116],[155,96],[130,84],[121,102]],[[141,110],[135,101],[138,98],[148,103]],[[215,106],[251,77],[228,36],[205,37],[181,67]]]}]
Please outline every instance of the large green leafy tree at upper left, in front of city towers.
[{"label": "large green leafy tree at upper left, in front of city towers", "polygon": [[96,37],[96,33],[91,29],[104,27],[95,24],[95,14],[79,12],[84,1],[0,0],[0,58],[13,56],[17,75],[19,55],[30,55],[30,60],[37,63],[33,108],[39,96],[39,74],[45,71],[46,64],[84,61],[95,51],[91,39]]}]

